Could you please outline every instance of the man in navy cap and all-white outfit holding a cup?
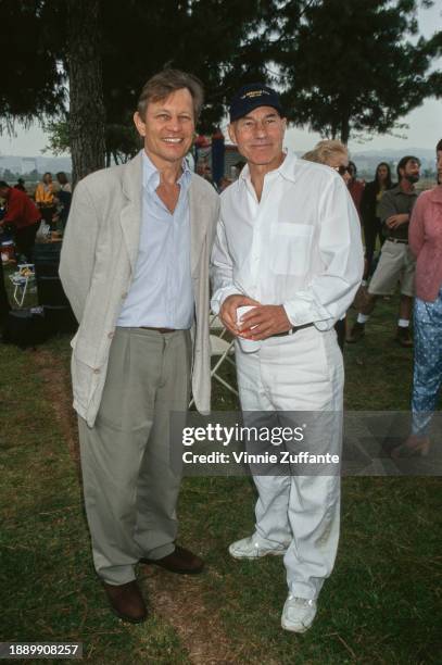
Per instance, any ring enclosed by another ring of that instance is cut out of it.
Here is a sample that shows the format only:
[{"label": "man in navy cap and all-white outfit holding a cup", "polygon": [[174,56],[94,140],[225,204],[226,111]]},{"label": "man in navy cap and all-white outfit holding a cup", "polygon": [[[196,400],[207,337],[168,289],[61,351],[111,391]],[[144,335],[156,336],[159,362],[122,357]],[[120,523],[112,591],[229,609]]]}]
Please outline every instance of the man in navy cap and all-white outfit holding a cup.
[{"label": "man in navy cap and all-white outfit holding a cup", "polygon": [[[285,130],[274,90],[253,84],[235,96],[229,135],[248,163],[222,196],[212,308],[239,339],[258,342],[254,352],[236,343],[242,410],[289,421],[310,412],[313,422],[326,413],[333,424],[319,446],[339,455],[344,377],[333,325],[361,284],[361,227],[342,178],[285,152]],[[254,308],[237,323],[243,305]],[[289,595],[281,624],[304,632],[334,563],[339,474],[263,474],[254,481],[255,531],[229,552],[283,555]]]}]

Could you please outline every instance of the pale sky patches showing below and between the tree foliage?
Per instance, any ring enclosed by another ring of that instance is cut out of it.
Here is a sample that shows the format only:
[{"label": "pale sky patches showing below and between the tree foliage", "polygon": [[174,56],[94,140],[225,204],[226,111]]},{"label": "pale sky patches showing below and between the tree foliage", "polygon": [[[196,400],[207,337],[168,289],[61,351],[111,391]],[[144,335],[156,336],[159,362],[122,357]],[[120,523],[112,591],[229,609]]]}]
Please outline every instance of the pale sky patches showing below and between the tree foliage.
[{"label": "pale sky patches showing below and between the tree foliage", "polygon": [[[440,0],[429,10],[419,10],[419,28],[421,35],[430,37],[435,30],[442,29],[442,9]],[[442,67],[442,59],[437,63]],[[429,148],[442,138],[442,99],[427,99],[421,106],[415,109],[400,121],[409,127],[401,131],[405,138],[389,135],[372,135],[364,142],[349,142],[351,152],[365,150],[393,150],[406,148]],[[299,151],[311,150],[320,140],[320,136],[306,129],[290,128],[286,135],[286,145]],[[0,155],[36,156],[42,154],[48,145],[48,138],[41,127],[34,124],[28,130],[17,128],[15,137],[0,136]],[[45,152],[46,156],[52,156]]]}]

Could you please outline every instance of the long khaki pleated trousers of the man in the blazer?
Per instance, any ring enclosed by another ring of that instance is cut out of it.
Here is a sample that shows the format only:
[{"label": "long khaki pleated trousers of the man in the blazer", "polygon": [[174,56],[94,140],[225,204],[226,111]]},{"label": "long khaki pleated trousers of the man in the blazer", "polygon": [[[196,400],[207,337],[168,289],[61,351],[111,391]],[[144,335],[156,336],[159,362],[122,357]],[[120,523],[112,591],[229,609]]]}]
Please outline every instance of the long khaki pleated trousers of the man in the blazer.
[{"label": "long khaki pleated trousers of the man in the blazer", "polygon": [[96,424],[79,423],[93,563],[108,584],[135,579],[141,556],[174,550],[180,475],[171,467],[171,412],[186,412],[190,334],[116,328]]}]

